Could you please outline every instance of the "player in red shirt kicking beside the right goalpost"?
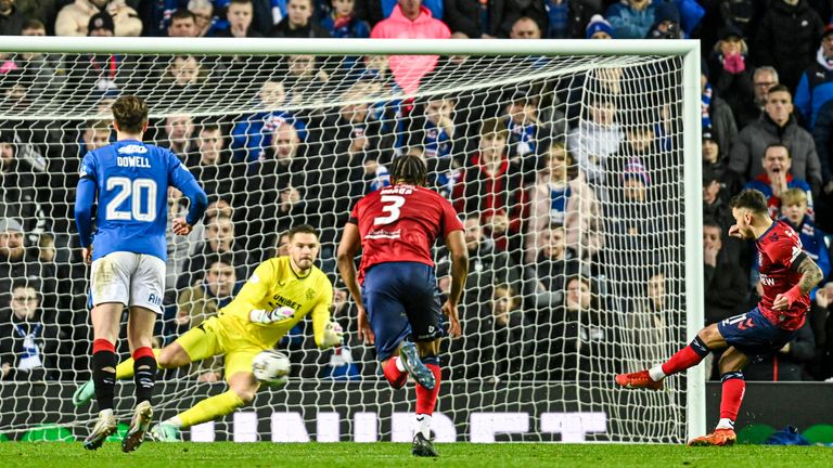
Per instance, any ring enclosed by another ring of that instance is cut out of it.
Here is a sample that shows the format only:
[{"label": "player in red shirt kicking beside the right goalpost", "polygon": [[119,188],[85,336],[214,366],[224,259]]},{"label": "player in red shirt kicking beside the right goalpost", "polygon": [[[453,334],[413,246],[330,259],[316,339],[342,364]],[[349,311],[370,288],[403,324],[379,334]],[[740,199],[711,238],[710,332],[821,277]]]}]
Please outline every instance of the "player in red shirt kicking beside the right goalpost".
[{"label": "player in red shirt kicking beside the right goalpost", "polygon": [[783,221],[772,221],[767,199],[756,190],[744,190],[732,198],[735,224],[729,235],[755,240],[764,297],[752,311],[709,325],[694,341],[666,363],[651,369],[616,376],[625,388],[658,390],[663,379],[697,365],[713,350],[722,350],[718,363],[723,391],[720,420],[714,432],[692,439],[689,445],[731,445],[734,421],[745,382],[741,369],[757,356],[783,348],[804,325],[810,307],[810,289],[821,282],[821,269],[804,251],[798,234]]}]

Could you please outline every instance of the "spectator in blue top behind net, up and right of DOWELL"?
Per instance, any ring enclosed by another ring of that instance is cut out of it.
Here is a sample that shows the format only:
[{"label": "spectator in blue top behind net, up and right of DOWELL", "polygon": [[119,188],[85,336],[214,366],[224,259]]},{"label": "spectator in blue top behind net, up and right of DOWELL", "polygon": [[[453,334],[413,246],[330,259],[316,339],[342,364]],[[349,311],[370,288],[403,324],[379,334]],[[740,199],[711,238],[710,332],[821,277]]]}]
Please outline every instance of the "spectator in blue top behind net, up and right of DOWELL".
[{"label": "spectator in blue top behind net, up and right of DOWELL", "polygon": [[256,104],[260,110],[241,118],[231,131],[231,147],[234,151],[234,161],[256,160],[262,150],[271,142],[272,133],[278,126],[290,123],[295,127],[300,140],[307,138],[307,126],[304,120],[296,118],[293,113],[283,110],[286,102],[286,88],[282,81],[269,79],[264,81]]}]

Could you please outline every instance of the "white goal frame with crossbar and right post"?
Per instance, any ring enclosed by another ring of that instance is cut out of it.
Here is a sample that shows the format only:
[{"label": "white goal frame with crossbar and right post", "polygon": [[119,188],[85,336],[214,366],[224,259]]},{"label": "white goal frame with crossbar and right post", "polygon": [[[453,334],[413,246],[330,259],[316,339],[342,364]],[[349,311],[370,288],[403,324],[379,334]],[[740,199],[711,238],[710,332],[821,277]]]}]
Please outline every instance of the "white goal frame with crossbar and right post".
[{"label": "white goal frame with crossbar and right post", "polygon": [[[687,336],[703,325],[703,237],[701,188],[701,48],[697,40],[372,40],[0,37],[0,52],[133,54],[328,54],[328,55],[666,55],[682,58],[683,177]],[[689,437],[706,431],[705,370],[687,377]]]}]

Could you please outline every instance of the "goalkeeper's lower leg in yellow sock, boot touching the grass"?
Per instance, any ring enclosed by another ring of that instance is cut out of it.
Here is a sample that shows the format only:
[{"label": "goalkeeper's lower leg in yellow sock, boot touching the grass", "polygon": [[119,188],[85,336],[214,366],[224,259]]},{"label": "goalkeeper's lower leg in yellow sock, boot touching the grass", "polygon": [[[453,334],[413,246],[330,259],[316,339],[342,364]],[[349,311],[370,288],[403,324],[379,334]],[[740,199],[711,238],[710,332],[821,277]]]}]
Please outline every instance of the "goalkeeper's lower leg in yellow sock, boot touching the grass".
[{"label": "goalkeeper's lower leg in yellow sock, boot touching the grass", "polygon": [[226,354],[226,381],[229,389],[200,401],[189,410],[161,422],[152,429],[156,440],[177,441],[179,431],[233,413],[254,401],[259,384],[252,373],[252,361],[261,350],[245,348]]}]

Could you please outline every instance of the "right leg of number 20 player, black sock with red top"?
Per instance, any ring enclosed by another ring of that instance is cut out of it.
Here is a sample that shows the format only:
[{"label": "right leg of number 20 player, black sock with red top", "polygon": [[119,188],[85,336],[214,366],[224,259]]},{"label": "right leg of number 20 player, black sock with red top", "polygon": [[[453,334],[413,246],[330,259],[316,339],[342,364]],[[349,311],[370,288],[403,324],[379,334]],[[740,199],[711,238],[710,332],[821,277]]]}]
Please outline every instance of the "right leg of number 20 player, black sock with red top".
[{"label": "right leg of number 20 player, black sock with red top", "polygon": [[153,388],[156,384],[156,356],[151,348],[156,311],[145,307],[131,306],[127,323],[127,340],[133,360],[136,382],[136,408],[130,427],[121,441],[124,452],[132,452],[141,445],[153,418]]}]

